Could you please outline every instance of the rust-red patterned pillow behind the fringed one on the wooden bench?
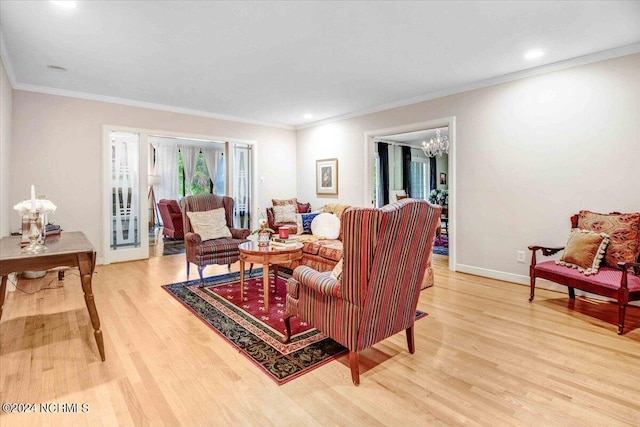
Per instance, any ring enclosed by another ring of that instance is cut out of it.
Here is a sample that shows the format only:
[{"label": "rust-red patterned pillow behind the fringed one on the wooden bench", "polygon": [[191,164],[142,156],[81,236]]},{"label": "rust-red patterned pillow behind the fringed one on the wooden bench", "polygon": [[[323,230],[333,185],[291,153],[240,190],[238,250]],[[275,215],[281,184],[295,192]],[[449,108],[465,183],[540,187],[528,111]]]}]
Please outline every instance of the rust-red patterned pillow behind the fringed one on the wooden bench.
[{"label": "rust-red patterned pillow behind the fringed one on the wooden bench", "polygon": [[606,233],[611,241],[604,256],[608,267],[618,268],[618,262],[635,262],[640,255],[640,213],[600,214],[580,211],[578,228]]}]

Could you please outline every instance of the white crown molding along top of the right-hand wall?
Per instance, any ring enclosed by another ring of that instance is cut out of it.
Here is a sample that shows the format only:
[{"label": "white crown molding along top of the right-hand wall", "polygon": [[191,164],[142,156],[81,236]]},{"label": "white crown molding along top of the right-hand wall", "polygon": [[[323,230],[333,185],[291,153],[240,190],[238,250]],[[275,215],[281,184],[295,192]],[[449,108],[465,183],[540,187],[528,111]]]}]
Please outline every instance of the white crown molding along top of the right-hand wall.
[{"label": "white crown molding along top of the right-hand wall", "polygon": [[527,77],[533,77],[541,74],[551,73],[554,71],[564,70],[567,68],[577,67],[579,65],[586,65],[593,62],[600,62],[600,61],[605,61],[607,59],[613,59],[621,56],[632,55],[638,52],[640,52],[640,43],[634,43],[626,46],[621,46],[615,49],[604,50],[604,51],[592,53],[589,55],[583,55],[583,56],[578,56],[576,58],[567,59],[564,61],[554,62],[547,65],[541,65],[535,68],[516,71],[514,73],[504,74],[502,76],[480,80],[478,82],[473,82],[466,85],[455,86],[455,87],[431,92],[431,93],[417,96],[414,98],[405,99],[403,101],[383,104],[376,107],[367,108],[364,110],[354,111],[352,113],[342,114],[342,115],[331,117],[324,120],[318,120],[316,122],[305,123],[303,125],[296,126],[295,129],[302,130],[302,129],[307,129],[307,128],[316,127],[320,125],[335,123],[342,120],[353,119],[356,117],[365,116],[367,114],[378,113],[380,111],[391,110],[393,108],[405,107],[407,105],[418,104],[420,102],[430,101],[437,98],[443,98],[445,96],[455,95],[457,93],[469,92],[475,89],[495,86],[501,83],[507,83],[514,80],[521,80]]}]

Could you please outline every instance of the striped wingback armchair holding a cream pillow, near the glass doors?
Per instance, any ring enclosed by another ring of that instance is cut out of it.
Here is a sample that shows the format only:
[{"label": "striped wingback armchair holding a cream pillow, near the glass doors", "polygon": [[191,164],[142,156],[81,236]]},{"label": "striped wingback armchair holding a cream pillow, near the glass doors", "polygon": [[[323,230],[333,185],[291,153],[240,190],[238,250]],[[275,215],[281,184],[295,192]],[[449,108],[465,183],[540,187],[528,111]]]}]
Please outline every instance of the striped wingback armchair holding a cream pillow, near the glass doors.
[{"label": "striped wingback armchair holding a cream pillow, near the glass doors", "polygon": [[[182,208],[182,220],[184,221],[184,244],[187,254],[187,280],[189,279],[189,266],[194,263],[198,266],[200,275],[200,287],[204,286],[202,272],[210,264],[231,265],[240,259],[238,246],[248,242],[247,236],[250,230],[233,228],[233,199],[216,194],[198,194],[187,196],[180,201]],[[193,232],[187,212],[202,212],[224,208],[227,227],[231,231],[231,237],[202,241],[199,234]]]}]

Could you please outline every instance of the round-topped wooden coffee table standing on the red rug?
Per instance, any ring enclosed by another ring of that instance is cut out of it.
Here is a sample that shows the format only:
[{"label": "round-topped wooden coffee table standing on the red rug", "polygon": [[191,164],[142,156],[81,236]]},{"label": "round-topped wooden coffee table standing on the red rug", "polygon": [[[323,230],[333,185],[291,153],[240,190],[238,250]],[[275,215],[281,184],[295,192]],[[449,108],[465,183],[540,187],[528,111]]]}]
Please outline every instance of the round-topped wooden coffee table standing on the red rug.
[{"label": "round-topped wooden coffee table standing on the red rug", "polygon": [[302,258],[302,243],[295,246],[258,246],[250,241],[240,244],[240,301],[244,301],[244,263],[262,264],[262,285],[264,287],[264,309],[269,311],[269,265],[273,265],[273,276],[278,283],[278,264]]}]

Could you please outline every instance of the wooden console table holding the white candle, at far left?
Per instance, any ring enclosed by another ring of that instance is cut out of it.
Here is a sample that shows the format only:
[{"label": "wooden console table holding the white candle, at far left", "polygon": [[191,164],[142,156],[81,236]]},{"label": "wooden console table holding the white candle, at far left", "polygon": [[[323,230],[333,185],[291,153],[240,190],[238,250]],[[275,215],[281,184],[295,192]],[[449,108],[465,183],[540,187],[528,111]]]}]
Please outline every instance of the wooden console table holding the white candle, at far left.
[{"label": "wooden console table holding the white candle, at far left", "polygon": [[3,237],[0,239],[0,319],[2,319],[2,306],[7,291],[7,276],[19,271],[41,271],[54,267],[78,267],[84,301],[87,304],[94,336],[98,344],[100,357],[104,362],[104,342],[100,330],[100,318],[93,300],[91,278],[96,267],[96,251],[93,245],[81,232],[64,231],[58,236],[47,238],[45,245],[47,251],[41,254],[23,254],[20,248],[20,237]]}]

